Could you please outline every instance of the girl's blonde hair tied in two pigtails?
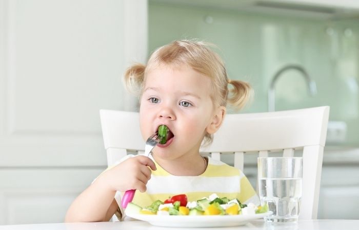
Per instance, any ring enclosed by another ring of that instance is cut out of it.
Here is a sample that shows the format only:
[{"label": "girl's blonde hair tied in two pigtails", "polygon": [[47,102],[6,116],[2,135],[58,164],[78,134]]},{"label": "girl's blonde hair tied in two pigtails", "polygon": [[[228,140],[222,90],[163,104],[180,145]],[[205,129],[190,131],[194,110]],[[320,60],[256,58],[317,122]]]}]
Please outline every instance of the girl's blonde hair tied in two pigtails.
[{"label": "girl's blonde hair tied in two pigtails", "polygon": [[[228,79],[224,62],[209,47],[213,47],[213,44],[195,40],[177,40],[164,45],[151,54],[147,66],[134,64],[127,69],[125,85],[129,91],[141,97],[147,73],[153,67],[160,64],[173,67],[188,65],[212,79],[210,96],[215,105],[226,107],[228,102],[235,109],[242,108],[253,93],[251,86],[244,81]],[[212,142],[210,134],[207,133],[205,137],[205,143]]]}]

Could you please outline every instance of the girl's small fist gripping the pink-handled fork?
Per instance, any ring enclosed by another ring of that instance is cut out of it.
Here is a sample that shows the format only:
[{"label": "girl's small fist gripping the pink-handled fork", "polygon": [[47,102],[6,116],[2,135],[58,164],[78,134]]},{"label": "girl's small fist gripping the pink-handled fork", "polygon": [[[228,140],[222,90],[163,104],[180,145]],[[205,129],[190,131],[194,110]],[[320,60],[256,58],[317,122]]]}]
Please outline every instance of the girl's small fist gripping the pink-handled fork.
[{"label": "girl's small fist gripping the pink-handled fork", "polygon": [[146,191],[151,169],[156,170],[154,162],[146,156],[135,156],[106,171],[101,177],[113,191],[136,189]]}]

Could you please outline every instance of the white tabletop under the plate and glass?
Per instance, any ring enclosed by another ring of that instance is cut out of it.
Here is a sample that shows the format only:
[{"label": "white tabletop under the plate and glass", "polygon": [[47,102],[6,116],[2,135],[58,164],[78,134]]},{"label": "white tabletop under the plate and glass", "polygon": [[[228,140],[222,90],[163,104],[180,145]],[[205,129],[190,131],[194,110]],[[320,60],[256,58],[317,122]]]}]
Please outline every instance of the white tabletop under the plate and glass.
[{"label": "white tabletop under the plate and glass", "polygon": [[317,230],[317,229],[359,229],[359,220],[310,220],[298,221],[297,223],[265,223],[263,220],[251,221],[246,225],[236,227],[214,227],[214,228],[171,228],[171,227],[156,227],[144,221],[124,221],[124,222],[97,222],[97,223],[49,223],[49,224],[23,224],[23,225],[2,225],[1,230],[120,230],[120,229],[149,229],[149,230],[187,230],[187,229],[210,229],[210,230],[225,230],[225,229],[275,229],[275,230]]}]

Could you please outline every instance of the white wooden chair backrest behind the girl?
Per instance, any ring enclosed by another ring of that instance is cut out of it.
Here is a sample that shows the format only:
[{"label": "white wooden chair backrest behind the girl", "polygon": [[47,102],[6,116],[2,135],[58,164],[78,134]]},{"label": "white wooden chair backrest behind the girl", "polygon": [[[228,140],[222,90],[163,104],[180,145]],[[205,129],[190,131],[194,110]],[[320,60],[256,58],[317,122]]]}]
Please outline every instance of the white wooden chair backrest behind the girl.
[{"label": "white wooden chair backrest behind the girl", "polygon": [[[101,124],[108,165],[128,152],[141,153],[145,142],[137,112],[101,110]],[[234,167],[243,170],[244,154],[268,156],[303,153],[303,197],[300,219],[316,219],[329,106],[276,112],[227,114],[213,143],[201,153],[220,159],[234,154]]]}]

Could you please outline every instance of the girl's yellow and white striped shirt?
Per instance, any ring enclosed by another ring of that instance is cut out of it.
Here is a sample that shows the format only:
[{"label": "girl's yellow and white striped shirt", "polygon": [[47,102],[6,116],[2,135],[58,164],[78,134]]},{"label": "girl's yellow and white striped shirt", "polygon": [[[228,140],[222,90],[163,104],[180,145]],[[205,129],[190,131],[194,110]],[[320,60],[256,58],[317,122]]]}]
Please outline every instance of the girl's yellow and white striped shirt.
[{"label": "girl's yellow and white striped shirt", "polygon": [[[125,158],[132,157],[128,155]],[[151,157],[151,156],[150,156]],[[198,176],[174,176],[159,166],[151,157],[157,170],[152,171],[147,183],[147,191],[136,191],[132,200],[135,204],[146,207],[155,200],[166,200],[170,196],[186,194],[188,201],[196,201],[215,193],[219,197],[238,199],[241,203],[260,204],[260,200],[242,171],[221,161],[208,157],[206,171]],[[116,201],[121,207],[123,193],[116,193]],[[121,211],[122,207],[120,208]],[[122,212],[123,213],[123,212]]]}]

